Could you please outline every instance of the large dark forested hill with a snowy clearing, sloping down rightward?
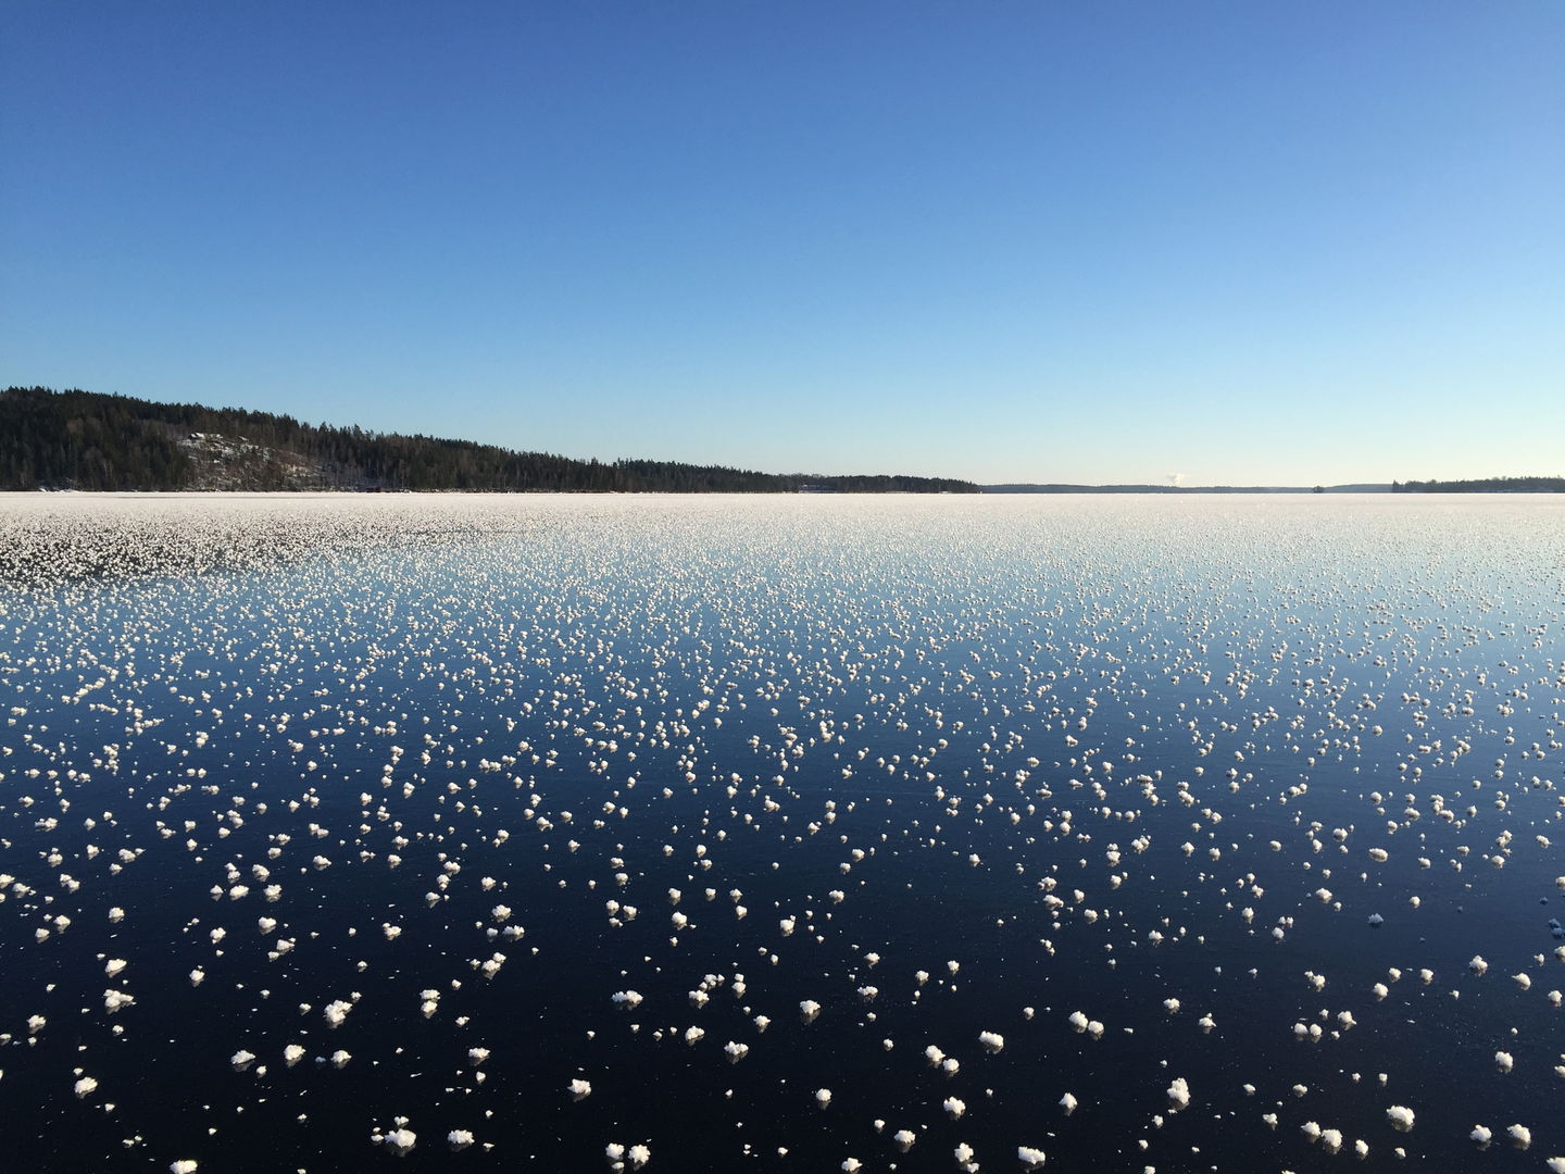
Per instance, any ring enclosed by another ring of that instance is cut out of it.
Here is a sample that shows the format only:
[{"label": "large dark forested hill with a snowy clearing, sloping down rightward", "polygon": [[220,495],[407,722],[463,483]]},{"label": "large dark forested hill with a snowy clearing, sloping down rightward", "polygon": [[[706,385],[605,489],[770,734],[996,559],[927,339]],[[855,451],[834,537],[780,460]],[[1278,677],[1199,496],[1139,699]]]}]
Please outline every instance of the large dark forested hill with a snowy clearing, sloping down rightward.
[{"label": "large dark forested hill with a snowy clearing, sloping down rightward", "polygon": [[977,493],[969,481],[573,460],[92,391],[0,391],[0,490]]}]

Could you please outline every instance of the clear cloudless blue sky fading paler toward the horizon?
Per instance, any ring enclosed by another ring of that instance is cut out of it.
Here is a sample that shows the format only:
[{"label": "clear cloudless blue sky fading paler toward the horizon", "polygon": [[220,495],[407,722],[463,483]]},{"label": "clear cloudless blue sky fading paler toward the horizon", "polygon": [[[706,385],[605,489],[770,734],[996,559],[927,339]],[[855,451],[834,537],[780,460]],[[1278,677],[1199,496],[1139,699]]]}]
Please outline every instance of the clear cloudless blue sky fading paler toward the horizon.
[{"label": "clear cloudless blue sky fading paler toward the horizon", "polygon": [[0,380],[977,481],[1565,473],[1559,0],[0,0]]}]

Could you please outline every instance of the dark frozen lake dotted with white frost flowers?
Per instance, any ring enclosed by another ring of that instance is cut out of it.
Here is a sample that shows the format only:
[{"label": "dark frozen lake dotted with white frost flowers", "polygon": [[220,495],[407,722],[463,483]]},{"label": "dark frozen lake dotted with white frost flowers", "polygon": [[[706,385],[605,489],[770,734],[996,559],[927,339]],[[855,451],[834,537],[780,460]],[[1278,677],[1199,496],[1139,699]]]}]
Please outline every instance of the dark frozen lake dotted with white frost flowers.
[{"label": "dark frozen lake dotted with white frost flowers", "polygon": [[1546,496],[0,495],[6,1161],[1545,1171],[1562,621]]}]

